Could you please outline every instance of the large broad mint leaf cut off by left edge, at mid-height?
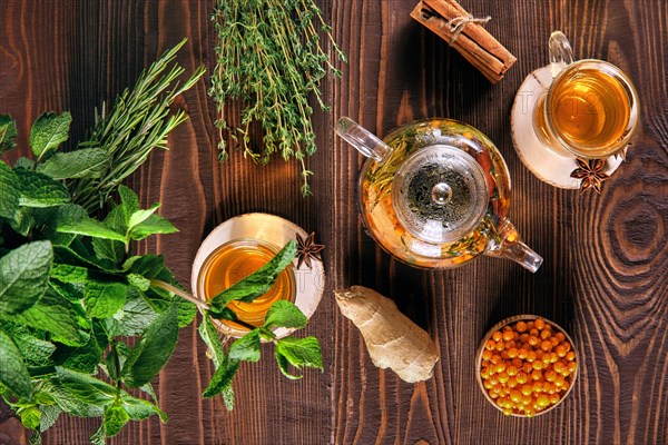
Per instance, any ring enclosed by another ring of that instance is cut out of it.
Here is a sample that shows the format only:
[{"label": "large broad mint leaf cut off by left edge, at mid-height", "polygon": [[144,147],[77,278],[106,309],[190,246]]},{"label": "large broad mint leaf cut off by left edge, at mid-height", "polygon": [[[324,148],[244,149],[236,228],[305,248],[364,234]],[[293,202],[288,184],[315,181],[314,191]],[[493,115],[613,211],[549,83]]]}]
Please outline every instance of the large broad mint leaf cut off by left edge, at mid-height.
[{"label": "large broad mint leaf cut off by left edge, at mid-height", "polygon": [[49,241],[28,243],[0,258],[0,313],[19,314],[39,300],[49,280]]}]

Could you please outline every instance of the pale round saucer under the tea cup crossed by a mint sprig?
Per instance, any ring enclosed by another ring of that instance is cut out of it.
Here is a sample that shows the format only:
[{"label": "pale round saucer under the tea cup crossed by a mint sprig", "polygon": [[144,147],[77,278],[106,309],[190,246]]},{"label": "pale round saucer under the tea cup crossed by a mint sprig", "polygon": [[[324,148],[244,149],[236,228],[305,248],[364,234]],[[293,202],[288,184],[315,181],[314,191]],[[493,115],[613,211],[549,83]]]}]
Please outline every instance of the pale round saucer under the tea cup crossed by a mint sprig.
[{"label": "pale round saucer under the tea cup crossed by a mint sprig", "polygon": [[[308,235],[303,228],[287,219],[268,214],[246,214],[228,219],[216,227],[202,243],[190,275],[190,285],[193,295],[202,300],[204,296],[198,295],[197,278],[199,270],[207,257],[225,243],[236,239],[259,239],[282,248],[295,236],[299,235],[306,239]],[[323,296],[325,288],[325,270],[321,261],[311,261],[312,268],[302,265],[297,269],[297,259],[294,261],[294,274],[296,284],[296,295],[294,304],[304,313],[306,318],[311,318]],[[239,337],[246,334],[245,330],[234,329],[223,323],[216,323],[220,332],[230,337]],[[278,338],[292,333],[294,329],[277,328],[274,334]]]}]

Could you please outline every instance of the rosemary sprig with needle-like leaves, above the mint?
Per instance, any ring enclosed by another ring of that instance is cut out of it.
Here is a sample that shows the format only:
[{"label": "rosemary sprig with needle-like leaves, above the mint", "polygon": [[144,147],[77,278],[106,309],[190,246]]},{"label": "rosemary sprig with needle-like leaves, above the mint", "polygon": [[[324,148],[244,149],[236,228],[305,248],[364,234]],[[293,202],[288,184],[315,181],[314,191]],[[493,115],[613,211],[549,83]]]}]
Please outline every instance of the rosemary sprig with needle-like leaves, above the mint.
[{"label": "rosemary sprig with needle-like leaves, above the mint", "polygon": [[167,135],[184,122],[186,113],[177,110],[169,115],[176,97],[193,87],[204,75],[199,67],[183,85],[177,79],[185,69],[178,63],[170,67],[181,40],[141,72],[132,89],[126,89],[109,113],[102,105],[96,110],[95,127],[80,147],[99,147],[111,156],[111,162],[99,178],[73,179],[67,184],[72,200],[96,212],[105,206],[116,187],[131,175],[154,148],[167,149]]}]

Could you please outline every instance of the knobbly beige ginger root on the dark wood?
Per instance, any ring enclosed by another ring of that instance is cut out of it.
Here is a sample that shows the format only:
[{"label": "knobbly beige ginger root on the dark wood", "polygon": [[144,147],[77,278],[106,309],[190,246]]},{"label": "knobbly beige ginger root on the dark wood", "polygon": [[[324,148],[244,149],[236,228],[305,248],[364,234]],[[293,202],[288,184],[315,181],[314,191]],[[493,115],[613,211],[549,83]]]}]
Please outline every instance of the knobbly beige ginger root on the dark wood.
[{"label": "knobbly beige ginger root on the dark wood", "polygon": [[393,300],[363,286],[335,290],[334,295],[341,313],[360,328],[375,366],[391,368],[407,383],[432,376],[439,360],[436,346]]}]

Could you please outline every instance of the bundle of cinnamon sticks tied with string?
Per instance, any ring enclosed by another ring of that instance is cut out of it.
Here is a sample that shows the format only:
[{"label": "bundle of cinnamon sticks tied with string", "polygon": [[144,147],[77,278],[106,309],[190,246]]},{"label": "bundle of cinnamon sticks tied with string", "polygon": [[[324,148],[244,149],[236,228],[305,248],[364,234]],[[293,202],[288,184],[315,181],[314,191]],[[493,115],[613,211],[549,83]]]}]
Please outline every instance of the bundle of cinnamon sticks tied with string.
[{"label": "bundle of cinnamon sticks tied with string", "polygon": [[435,32],[478,68],[492,83],[515,62],[499,41],[454,0],[422,0],[411,17]]}]

